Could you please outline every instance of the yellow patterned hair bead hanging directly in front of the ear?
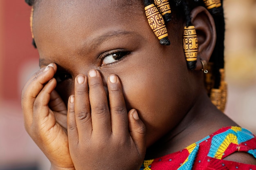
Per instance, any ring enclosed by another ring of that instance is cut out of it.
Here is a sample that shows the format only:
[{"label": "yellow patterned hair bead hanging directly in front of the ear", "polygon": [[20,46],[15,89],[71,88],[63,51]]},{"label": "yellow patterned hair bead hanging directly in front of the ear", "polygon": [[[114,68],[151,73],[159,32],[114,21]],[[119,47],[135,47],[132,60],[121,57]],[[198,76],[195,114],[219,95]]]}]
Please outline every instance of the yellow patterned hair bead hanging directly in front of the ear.
[{"label": "yellow patterned hair bead hanging directly in front of the ear", "polygon": [[[198,56],[198,38],[195,32],[195,26],[184,27],[183,45],[186,61],[196,63]],[[195,64],[192,65],[193,66],[189,66],[191,70],[195,68]]]}]

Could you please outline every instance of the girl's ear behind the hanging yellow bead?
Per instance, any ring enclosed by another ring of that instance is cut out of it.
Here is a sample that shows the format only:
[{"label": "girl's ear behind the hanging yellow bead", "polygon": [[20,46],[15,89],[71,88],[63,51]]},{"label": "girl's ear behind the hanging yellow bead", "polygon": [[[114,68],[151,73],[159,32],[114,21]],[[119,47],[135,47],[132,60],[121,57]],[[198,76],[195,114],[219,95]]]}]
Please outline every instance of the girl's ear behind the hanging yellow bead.
[{"label": "girl's ear behind the hanging yellow bead", "polygon": [[195,70],[201,70],[201,60],[209,62],[216,44],[215,22],[209,11],[201,6],[191,11],[191,22],[198,36],[198,57]]}]

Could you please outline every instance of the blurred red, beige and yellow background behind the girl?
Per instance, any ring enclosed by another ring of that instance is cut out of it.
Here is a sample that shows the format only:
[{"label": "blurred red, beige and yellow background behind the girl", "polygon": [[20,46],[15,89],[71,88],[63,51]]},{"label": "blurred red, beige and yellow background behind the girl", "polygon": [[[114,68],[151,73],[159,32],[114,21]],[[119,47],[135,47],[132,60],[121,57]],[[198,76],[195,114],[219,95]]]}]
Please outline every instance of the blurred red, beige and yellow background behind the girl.
[{"label": "blurred red, beige and yellow background behind the girl", "polygon": [[[256,134],[256,0],[225,0],[225,114]],[[0,170],[49,170],[49,161],[23,126],[20,93],[38,70],[31,45],[30,7],[0,0]]]}]

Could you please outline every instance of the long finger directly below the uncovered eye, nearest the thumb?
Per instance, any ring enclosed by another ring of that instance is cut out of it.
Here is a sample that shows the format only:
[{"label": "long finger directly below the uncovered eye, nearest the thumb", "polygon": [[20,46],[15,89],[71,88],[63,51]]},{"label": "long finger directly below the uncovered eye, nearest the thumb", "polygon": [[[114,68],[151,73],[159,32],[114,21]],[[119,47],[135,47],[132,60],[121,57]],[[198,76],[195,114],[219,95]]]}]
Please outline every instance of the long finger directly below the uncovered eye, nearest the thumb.
[{"label": "long finger directly below the uncovered eye, nearest the thumb", "polygon": [[110,75],[108,78],[108,95],[112,133],[113,135],[127,135],[129,133],[128,115],[121,82],[116,75]]}]

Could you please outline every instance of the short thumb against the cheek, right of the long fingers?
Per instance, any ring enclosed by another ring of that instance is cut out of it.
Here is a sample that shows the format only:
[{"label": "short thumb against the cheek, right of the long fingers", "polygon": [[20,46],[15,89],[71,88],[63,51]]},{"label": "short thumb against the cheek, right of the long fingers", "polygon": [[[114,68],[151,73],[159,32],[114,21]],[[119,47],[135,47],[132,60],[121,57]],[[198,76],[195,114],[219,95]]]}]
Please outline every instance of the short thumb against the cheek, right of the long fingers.
[{"label": "short thumb against the cheek, right of the long fingers", "polygon": [[128,113],[129,118],[129,130],[137,150],[140,154],[146,152],[146,126],[139,119],[138,113],[135,109],[132,109]]}]

